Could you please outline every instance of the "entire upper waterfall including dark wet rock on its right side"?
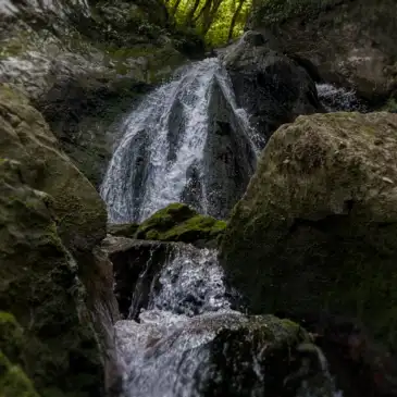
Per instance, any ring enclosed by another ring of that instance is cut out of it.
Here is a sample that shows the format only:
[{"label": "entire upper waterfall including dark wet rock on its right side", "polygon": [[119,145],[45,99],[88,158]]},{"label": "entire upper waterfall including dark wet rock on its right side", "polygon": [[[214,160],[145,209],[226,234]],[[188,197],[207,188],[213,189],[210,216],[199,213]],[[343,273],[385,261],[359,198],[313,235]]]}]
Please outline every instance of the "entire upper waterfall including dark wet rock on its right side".
[{"label": "entire upper waterfall including dark wet rock on its right side", "polygon": [[218,59],[183,67],[124,123],[101,186],[110,222],[140,222],[175,201],[223,216],[253,173],[255,139]]}]

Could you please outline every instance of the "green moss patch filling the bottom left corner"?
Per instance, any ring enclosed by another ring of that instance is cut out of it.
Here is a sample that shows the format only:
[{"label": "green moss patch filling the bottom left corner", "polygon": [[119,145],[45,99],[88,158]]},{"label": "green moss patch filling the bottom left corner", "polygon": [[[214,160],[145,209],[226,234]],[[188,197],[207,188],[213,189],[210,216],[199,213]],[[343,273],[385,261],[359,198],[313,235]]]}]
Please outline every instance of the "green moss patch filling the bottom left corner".
[{"label": "green moss patch filling the bottom left corner", "polygon": [[32,382],[21,370],[13,365],[0,350],[0,396],[39,397]]}]

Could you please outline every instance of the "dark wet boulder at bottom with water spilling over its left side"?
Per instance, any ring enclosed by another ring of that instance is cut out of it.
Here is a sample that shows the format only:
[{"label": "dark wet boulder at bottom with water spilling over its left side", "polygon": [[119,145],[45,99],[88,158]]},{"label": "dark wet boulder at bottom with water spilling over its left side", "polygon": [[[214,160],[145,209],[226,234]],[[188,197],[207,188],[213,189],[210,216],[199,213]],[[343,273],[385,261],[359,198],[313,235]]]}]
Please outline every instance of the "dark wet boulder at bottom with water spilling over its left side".
[{"label": "dark wet boulder at bottom with water spilling over its left side", "polygon": [[[144,352],[138,352],[145,360],[136,380],[146,384],[156,371],[157,382],[150,384],[154,395],[287,397],[296,396],[294,392],[301,384],[310,389],[317,377],[318,384],[330,385],[330,390],[324,387],[324,393],[299,396],[333,396],[321,351],[310,344],[308,333],[289,320],[222,311],[181,320],[166,335],[158,336],[161,324],[150,325]],[[131,327],[120,322],[116,332],[121,346],[128,349]],[[128,353],[136,355],[134,346],[129,348]],[[303,350],[305,363],[300,360]],[[177,369],[183,371],[173,376]],[[134,387],[133,382],[128,390]]]}]

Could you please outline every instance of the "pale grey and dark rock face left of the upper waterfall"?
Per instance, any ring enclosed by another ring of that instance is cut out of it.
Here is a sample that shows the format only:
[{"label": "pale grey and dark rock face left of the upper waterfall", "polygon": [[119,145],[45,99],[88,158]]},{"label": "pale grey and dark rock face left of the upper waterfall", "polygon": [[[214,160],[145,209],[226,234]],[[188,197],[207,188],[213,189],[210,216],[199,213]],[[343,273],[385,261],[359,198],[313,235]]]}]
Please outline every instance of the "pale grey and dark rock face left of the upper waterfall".
[{"label": "pale grey and dark rock face left of the upper waterfall", "polygon": [[182,38],[169,37],[166,12],[157,1],[8,5],[0,7],[0,83],[26,90],[62,148],[98,186],[114,140],[107,135],[110,125],[185,61],[176,49]]}]

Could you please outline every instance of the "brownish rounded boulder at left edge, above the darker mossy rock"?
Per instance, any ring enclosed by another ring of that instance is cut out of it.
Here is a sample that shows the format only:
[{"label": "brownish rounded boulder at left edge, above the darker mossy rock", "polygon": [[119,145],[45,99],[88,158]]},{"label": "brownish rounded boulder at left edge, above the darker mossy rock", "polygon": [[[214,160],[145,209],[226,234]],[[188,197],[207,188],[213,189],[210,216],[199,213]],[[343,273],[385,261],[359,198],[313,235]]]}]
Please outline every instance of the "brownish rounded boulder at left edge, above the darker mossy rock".
[{"label": "brownish rounded boulder at left edge, above the darker mossy rock", "polygon": [[0,156],[17,160],[26,184],[51,196],[57,227],[72,252],[106,236],[107,212],[95,188],[60,150],[41,114],[12,85],[0,85]]}]

